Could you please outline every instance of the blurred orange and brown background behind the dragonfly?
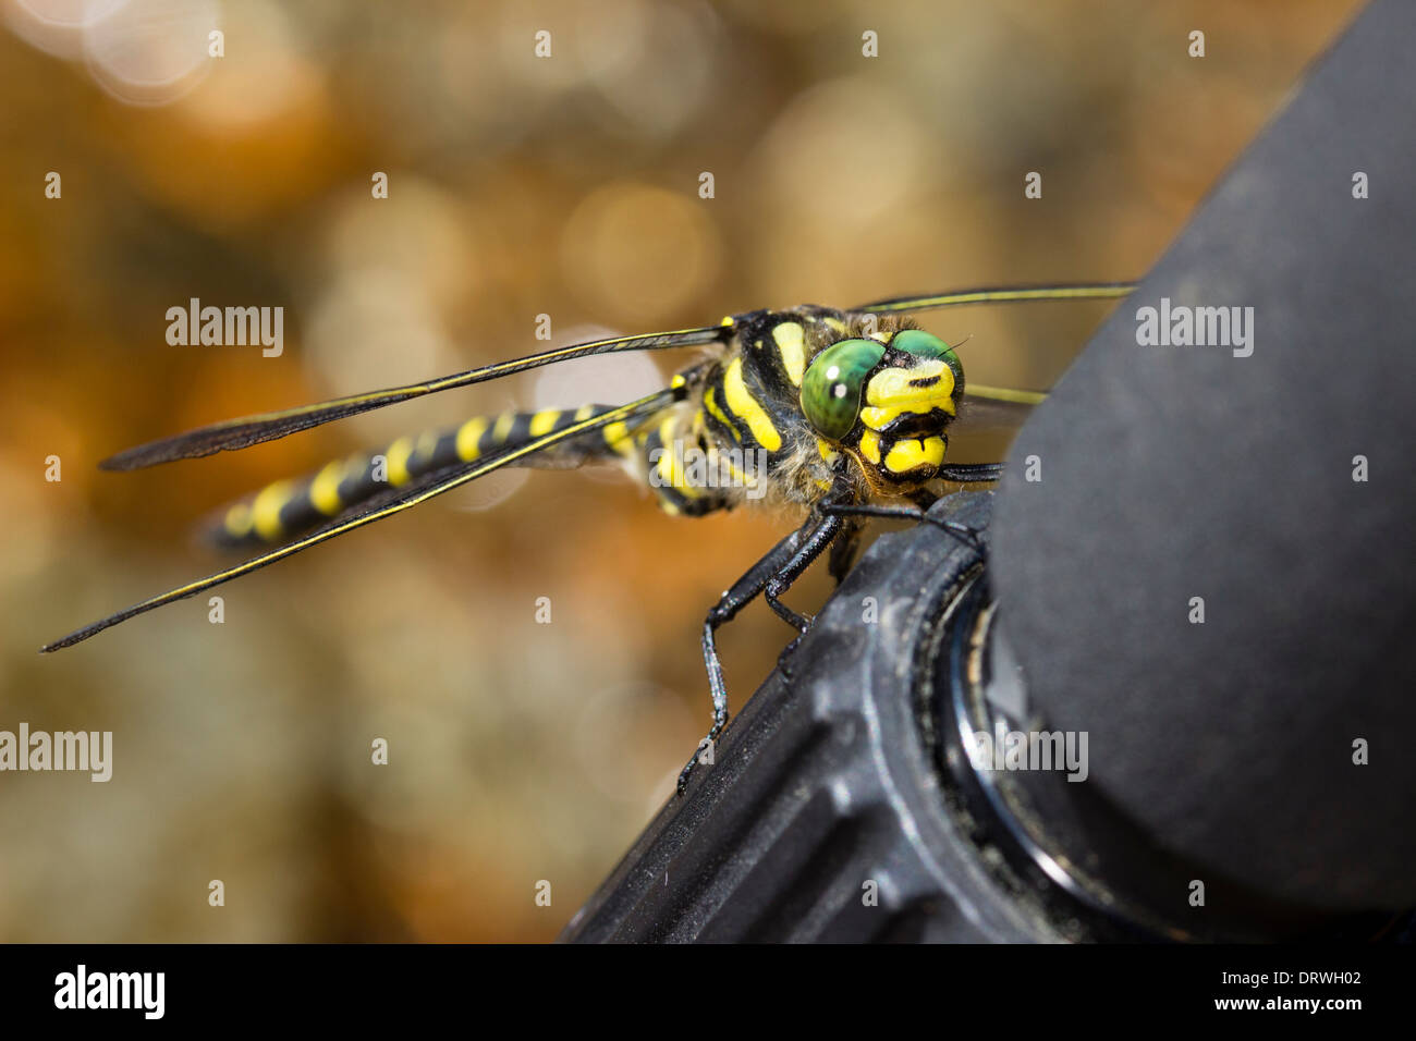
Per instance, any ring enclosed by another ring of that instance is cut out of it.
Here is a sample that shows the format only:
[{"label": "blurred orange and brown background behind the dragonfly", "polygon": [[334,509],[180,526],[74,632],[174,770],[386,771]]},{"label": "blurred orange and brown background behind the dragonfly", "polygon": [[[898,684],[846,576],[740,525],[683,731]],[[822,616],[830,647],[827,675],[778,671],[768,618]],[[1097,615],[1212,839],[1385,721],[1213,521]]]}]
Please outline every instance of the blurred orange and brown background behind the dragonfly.
[{"label": "blurred orange and brown background behind the dragonfly", "polygon": [[[222,625],[202,596],[41,657],[217,569],[188,531],[268,480],[508,405],[629,399],[675,358],[130,474],[99,459],[527,354],[538,314],[569,343],[1140,276],[1357,6],[0,0],[0,729],[115,744],[106,785],[0,773],[0,939],[554,938],[671,793],[709,717],[704,613],[789,524],[517,472],[224,586]],[[283,354],[169,346],[190,297],[282,306]],[[970,378],[1046,387],[1106,310],[925,324],[971,337]],[[811,574],[790,601],[828,592]],[[724,630],[735,708],[789,637],[760,605]]]}]

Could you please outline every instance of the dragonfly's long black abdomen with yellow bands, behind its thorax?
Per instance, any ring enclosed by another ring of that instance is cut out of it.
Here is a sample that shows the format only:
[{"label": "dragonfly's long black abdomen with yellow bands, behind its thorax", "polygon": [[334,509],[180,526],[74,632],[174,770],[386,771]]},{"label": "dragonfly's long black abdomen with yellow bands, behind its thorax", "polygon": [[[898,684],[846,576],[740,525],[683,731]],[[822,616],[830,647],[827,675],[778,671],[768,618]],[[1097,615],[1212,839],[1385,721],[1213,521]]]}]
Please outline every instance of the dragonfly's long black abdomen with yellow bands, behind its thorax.
[{"label": "dragonfly's long black abdomen with yellow bands, behind its thorax", "polygon": [[[211,542],[232,548],[285,542],[381,491],[449,466],[520,448],[610,409],[610,405],[582,405],[565,411],[503,412],[474,416],[455,429],[399,438],[384,452],[337,459],[312,476],[268,484],[222,511],[204,534]],[[612,423],[559,442],[515,465],[578,466],[592,459],[617,457],[616,452],[623,452],[627,439],[624,425]]]}]

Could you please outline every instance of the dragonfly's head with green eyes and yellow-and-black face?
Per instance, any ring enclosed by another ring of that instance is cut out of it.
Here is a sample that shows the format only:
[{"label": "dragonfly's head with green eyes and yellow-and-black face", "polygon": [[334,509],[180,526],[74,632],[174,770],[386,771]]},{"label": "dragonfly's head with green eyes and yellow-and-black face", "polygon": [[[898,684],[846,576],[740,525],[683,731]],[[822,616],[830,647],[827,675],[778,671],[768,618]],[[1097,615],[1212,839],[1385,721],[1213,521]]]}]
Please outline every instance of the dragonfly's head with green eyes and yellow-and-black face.
[{"label": "dragonfly's head with green eyes and yellow-and-black face", "polygon": [[915,484],[944,462],[963,377],[959,355],[922,329],[840,340],[807,367],[801,412],[881,482]]}]

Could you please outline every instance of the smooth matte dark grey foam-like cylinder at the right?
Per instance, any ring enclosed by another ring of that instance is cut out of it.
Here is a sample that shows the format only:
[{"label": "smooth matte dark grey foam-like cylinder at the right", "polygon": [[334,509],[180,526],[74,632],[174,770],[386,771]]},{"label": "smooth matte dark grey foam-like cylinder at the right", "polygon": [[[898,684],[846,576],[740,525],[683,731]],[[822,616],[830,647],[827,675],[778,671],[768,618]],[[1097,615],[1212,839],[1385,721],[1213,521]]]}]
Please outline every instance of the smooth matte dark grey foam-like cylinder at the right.
[{"label": "smooth matte dark grey foam-like cylinder at the right", "polygon": [[[1089,785],[1212,888],[1324,911],[1416,905],[1413,38],[1409,0],[1359,16],[1022,431],[994,530]],[[1163,299],[1249,346],[1141,346]]]}]

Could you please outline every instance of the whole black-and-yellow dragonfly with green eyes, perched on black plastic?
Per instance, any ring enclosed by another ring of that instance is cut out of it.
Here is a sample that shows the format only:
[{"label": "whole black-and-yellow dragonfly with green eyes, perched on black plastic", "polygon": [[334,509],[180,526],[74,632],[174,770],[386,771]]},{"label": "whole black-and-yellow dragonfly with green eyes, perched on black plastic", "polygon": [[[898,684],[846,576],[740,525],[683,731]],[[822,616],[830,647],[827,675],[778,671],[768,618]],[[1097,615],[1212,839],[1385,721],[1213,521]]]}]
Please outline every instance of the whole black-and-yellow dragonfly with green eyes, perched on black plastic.
[{"label": "whole black-and-yellow dragonfly with green eyes, perched on black plastic", "polygon": [[708,610],[702,657],[712,724],[678,778],[678,795],[728,725],[716,633],[762,596],[797,630],[811,619],[783,603],[792,584],[830,551],[840,582],[869,518],[930,523],[973,542],[977,533],[927,514],[949,484],[997,482],[1003,463],[946,462],[950,432],[1017,426],[1035,391],[966,384],[954,347],[920,329],[916,312],[961,305],[1104,300],[1131,282],[966,289],[902,296],[848,310],[801,305],[725,317],[716,326],[576,343],[423,382],[227,419],[119,452],[99,463],[135,470],[244,449],[321,423],[541,365],[622,351],[697,347],[668,387],[620,405],[508,411],[401,438],[385,450],[334,460],[276,482],[219,513],[211,541],[255,555],[135,603],[41,650],[71,647],[110,626],[195,596],[367,524],[385,520],[507,466],[609,462],[647,484],[660,507],[701,517],[739,506],[789,506],[800,524]]}]

